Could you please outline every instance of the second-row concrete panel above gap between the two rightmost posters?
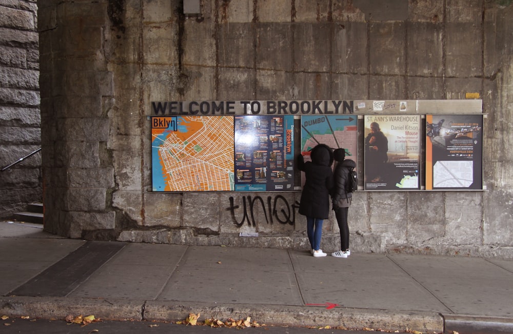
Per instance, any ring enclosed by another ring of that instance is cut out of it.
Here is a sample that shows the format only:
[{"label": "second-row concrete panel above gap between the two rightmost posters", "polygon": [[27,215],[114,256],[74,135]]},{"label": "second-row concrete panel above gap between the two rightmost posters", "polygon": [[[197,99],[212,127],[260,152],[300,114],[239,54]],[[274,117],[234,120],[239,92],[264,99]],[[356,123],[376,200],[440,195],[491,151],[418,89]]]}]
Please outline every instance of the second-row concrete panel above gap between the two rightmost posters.
[{"label": "second-row concrete panel above gap between the two rightmost posters", "polygon": [[443,26],[431,23],[407,23],[406,25],[408,75],[442,76]]}]

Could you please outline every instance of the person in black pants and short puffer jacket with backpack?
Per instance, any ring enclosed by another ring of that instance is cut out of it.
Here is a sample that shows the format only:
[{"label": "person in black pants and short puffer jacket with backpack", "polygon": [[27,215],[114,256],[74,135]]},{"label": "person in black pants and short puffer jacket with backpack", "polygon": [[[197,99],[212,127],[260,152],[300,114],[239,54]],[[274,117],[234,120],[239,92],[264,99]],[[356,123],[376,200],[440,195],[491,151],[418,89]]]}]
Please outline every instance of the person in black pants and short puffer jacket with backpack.
[{"label": "person in black pants and short puffer jacket with backpack", "polygon": [[340,249],[331,253],[336,258],[347,258],[349,250],[349,226],[347,224],[347,213],[352,201],[352,192],[346,192],[346,182],[349,178],[349,171],[356,167],[356,163],[346,158],[346,151],[338,148],[333,152],[333,158],[337,162],[333,172],[334,187],[331,191],[331,202],[337,223],[340,229]]}]

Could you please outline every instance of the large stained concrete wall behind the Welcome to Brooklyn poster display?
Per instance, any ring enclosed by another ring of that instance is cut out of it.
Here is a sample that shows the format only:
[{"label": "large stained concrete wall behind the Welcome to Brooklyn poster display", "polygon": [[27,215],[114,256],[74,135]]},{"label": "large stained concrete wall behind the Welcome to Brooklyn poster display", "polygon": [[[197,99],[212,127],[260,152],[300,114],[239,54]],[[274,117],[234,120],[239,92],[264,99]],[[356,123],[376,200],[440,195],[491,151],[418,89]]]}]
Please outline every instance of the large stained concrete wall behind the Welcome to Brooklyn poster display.
[{"label": "large stained concrete wall behind the Welcome to Brooklyn poster display", "polygon": [[[186,17],[179,0],[41,2],[45,229],[306,249],[305,218],[279,217],[300,193],[151,192],[151,102],[478,92],[488,190],[358,192],[351,248],[513,258],[510,3],[202,0],[202,15]],[[253,226],[243,208],[257,197]],[[276,199],[271,222],[264,212]],[[325,223],[324,250],[338,247],[336,226]]]}]

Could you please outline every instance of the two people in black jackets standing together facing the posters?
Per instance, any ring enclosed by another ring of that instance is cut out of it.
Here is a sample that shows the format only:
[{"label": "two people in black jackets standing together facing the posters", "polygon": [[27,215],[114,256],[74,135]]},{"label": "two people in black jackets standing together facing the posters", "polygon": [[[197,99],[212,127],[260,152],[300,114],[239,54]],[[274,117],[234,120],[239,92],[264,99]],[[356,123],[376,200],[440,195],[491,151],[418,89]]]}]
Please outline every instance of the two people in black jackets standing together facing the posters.
[{"label": "two people in black jackets standing together facing the posters", "polygon": [[[334,152],[327,145],[319,144],[310,152],[311,162],[304,161],[303,155],[298,155],[297,166],[305,172],[305,185],[301,193],[299,213],[306,216],[307,235],[311,252],[314,257],[325,257],[326,253],[320,248],[322,225],[329,215],[329,199],[337,217],[341,235],[341,250],[331,255],[347,258],[349,255],[349,228],[347,212],[351,204],[352,193],[345,192],[345,184],[349,176],[349,168],[356,167],[352,160],[345,160],[345,150],[336,149]],[[334,174],[331,169],[333,160],[337,161]]]}]

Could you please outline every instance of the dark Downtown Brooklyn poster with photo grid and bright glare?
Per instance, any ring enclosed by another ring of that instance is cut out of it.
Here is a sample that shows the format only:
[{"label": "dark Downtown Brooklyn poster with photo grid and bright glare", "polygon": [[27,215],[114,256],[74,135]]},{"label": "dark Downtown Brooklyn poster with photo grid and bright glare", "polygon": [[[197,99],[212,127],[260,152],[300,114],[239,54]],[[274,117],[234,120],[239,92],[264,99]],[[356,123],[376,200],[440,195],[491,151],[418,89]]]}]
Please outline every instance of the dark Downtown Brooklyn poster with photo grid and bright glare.
[{"label": "dark Downtown Brooklyn poster with photo grid and bright glare", "polygon": [[[294,190],[294,116],[235,116],[235,190]],[[233,156],[232,156],[233,159]]]}]

